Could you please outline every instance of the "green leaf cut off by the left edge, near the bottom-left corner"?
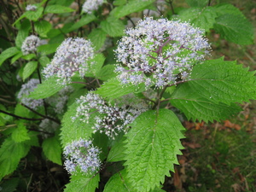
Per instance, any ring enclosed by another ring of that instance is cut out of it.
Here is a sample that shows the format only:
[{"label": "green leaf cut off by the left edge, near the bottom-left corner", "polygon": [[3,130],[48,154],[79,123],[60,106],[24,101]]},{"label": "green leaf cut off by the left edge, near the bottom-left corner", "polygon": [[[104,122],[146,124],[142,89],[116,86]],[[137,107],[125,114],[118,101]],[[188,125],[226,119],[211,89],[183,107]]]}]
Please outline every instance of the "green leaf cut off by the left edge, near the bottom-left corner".
[{"label": "green leaf cut off by the left edge, near the bottom-left corner", "polygon": [[15,171],[20,159],[28,153],[30,145],[26,142],[15,143],[11,137],[4,140],[0,148],[0,180]]}]

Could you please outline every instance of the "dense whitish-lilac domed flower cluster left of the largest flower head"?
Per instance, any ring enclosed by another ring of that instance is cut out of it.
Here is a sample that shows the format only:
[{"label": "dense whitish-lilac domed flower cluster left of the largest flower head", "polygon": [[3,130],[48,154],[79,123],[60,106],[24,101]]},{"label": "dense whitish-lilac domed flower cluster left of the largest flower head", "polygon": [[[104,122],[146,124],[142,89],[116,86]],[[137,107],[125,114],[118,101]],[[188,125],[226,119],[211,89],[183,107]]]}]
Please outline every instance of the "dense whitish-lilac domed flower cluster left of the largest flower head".
[{"label": "dense whitish-lilac domed flower cluster left of the largest flower head", "polygon": [[71,83],[71,77],[79,73],[81,78],[88,70],[94,49],[89,40],[67,38],[56,50],[53,60],[44,68],[44,78],[56,76],[58,84]]}]

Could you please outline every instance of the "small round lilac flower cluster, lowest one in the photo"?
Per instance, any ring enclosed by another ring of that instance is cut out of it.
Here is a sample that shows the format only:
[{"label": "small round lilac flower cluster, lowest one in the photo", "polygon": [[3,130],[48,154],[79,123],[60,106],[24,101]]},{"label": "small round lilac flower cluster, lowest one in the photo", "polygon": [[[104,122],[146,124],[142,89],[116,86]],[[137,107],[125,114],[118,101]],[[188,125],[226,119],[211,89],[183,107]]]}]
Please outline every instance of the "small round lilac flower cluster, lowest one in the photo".
[{"label": "small round lilac flower cluster, lowest one in the photo", "polygon": [[63,154],[67,159],[64,166],[69,173],[75,173],[79,167],[81,172],[91,174],[101,166],[100,149],[94,147],[90,140],[79,139],[68,144]]}]

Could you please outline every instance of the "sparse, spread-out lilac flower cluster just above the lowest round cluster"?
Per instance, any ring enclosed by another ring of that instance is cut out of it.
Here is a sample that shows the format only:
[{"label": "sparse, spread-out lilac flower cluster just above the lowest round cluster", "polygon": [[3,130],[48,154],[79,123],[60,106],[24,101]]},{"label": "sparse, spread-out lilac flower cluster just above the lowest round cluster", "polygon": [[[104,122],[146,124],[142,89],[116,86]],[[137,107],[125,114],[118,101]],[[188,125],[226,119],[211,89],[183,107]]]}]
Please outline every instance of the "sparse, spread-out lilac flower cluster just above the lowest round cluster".
[{"label": "sparse, spread-out lilac flower cluster just above the lowest round cluster", "polygon": [[113,138],[119,131],[127,131],[127,125],[137,118],[140,113],[148,110],[145,106],[137,105],[137,108],[131,106],[117,106],[105,102],[101,96],[88,93],[86,96],[80,96],[79,107],[76,115],[72,118],[79,119],[84,123],[89,123],[93,115],[94,125],[92,129],[104,132],[108,137]]}]

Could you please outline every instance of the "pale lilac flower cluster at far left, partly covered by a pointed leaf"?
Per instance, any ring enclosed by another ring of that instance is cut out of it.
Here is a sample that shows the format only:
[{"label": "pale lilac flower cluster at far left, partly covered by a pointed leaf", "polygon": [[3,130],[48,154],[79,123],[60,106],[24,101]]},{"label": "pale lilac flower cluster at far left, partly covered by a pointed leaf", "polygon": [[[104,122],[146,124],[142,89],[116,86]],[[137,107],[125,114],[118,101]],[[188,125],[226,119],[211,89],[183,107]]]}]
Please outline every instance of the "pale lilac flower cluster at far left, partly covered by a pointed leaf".
[{"label": "pale lilac flower cluster at far left, partly covered by a pointed leaf", "polygon": [[24,103],[26,106],[36,110],[38,107],[44,105],[43,99],[32,99],[28,98],[28,96],[39,84],[38,79],[30,79],[26,84],[22,84],[20,92],[18,94],[18,98],[20,102]]}]

